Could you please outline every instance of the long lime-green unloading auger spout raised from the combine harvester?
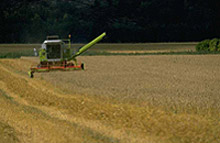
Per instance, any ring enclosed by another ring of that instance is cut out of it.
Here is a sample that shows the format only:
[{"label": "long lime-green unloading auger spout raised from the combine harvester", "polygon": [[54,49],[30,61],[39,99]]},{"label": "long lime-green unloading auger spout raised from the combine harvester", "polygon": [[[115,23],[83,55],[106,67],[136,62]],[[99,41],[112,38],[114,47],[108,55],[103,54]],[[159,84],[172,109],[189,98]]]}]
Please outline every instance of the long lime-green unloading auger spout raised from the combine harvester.
[{"label": "long lime-green unloading auger spout raised from the combine harvester", "polygon": [[100,36],[98,36],[97,38],[95,38],[94,40],[92,40],[91,42],[89,42],[88,44],[86,44],[85,46],[83,46],[79,52],[77,52],[75,55],[73,55],[71,57],[71,59],[74,59],[75,57],[81,55],[82,53],[84,53],[85,51],[87,51],[89,48],[91,48],[93,45],[95,45],[96,43],[98,43],[99,41],[101,41],[103,39],[103,37],[105,37],[106,33],[102,33]]}]

